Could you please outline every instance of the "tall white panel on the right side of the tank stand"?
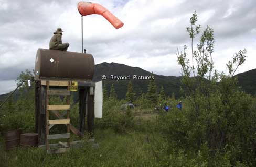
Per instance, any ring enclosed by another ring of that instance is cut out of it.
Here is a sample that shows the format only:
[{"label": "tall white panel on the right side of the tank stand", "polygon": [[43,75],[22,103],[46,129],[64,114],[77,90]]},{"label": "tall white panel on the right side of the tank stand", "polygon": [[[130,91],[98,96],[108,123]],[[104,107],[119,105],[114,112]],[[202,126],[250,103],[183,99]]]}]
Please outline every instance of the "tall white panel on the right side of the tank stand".
[{"label": "tall white panel on the right side of the tank stand", "polygon": [[103,90],[102,81],[95,83],[94,117],[102,118]]}]

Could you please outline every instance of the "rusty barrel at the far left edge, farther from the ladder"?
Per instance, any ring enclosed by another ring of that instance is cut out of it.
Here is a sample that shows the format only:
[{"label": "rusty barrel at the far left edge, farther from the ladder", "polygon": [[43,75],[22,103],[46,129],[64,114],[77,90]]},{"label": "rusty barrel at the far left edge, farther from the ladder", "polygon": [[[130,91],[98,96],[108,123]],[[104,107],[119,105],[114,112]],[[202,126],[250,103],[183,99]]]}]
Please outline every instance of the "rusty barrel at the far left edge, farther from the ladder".
[{"label": "rusty barrel at the far left edge, farther from the ladder", "polygon": [[21,129],[3,132],[6,151],[12,150],[19,145],[20,134],[22,134]]}]

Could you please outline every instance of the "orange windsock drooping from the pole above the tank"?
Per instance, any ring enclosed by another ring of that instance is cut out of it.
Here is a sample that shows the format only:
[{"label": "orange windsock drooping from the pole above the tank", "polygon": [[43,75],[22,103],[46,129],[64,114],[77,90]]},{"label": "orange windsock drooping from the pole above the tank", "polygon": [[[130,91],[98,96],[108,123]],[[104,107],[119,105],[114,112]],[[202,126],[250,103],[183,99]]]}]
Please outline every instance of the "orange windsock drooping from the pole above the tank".
[{"label": "orange windsock drooping from the pole above the tank", "polygon": [[77,5],[78,11],[82,16],[98,14],[102,15],[105,19],[107,19],[111,25],[113,25],[116,29],[123,27],[124,23],[120,21],[117,17],[115,17],[108,9],[103,6],[91,3],[91,2],[79,2]]}]

